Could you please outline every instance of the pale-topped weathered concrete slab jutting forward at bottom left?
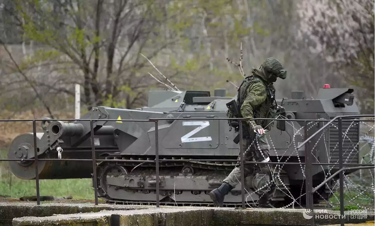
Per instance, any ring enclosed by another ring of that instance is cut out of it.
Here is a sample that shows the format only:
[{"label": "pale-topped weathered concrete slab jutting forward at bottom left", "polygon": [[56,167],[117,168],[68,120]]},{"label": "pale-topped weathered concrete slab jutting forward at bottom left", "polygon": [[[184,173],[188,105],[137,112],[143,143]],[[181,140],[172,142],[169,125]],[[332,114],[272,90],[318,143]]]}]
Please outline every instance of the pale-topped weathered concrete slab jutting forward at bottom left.
[{"label": "pale-topped weathered concrete slab jutting forward at bottom left", "polygon": [[151,207],[139,210],[103,210],[97,213],[54,214],[49,217],[20,217],[14,226],[26,225],[108,225],[112,214],[120,215],[121,226],[206,226],[212,222],[213,211],[204,208]]}]

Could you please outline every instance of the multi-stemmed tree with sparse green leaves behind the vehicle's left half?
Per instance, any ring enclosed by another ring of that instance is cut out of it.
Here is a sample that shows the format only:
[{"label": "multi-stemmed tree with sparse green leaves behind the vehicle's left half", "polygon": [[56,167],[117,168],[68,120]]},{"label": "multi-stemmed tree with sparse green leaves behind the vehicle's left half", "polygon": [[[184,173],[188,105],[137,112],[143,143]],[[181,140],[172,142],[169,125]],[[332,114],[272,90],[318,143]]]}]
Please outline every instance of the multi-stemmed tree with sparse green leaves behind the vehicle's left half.
[{"label": "multi-stemmed tree with sparse green leaves behind the vehicle's left half", "polygon": [[[41,48],[39,54],[30,55],[32,61],[46,63],[54,58],[65,62],[59,67],[62,73],[48,79],[36,76],[38,88],[71,95],[72,84],[79,83],[88,109],[102,104],[113,107],[119,102],[131,108],[144,99],[141,90],[155,83],[145,79],[148,75],[142,68],[147,62],[138,53],[151,59],[174,42],[159,40],[154,34],[165,19],[160,18],[156,1],[16,2],[13,15],[23,21],[18,25],[27,41]],[[57,65],[49,69],[55,70]]]}]

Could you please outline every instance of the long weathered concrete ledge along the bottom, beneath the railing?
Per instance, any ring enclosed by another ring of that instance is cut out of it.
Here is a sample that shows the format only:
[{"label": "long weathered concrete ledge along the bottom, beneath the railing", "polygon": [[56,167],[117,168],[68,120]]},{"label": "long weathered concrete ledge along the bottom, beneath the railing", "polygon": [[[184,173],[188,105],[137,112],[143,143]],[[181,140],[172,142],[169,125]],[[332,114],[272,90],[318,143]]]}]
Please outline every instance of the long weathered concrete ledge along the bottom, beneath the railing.
[{"label": "long weathered concrete ledge along the bottom, beneath the railing", "polygon": [[[303,209],[213,208],[105,205],[100,204],[42,204],[18,205],[29,208],[29,214],[14,217],[12,225],[110,225],[117,215],[121,226],[260,226],[260,225],[310,225],[303,217]],[[59,207],[61,206],[61,207]],[[9,208],[9,207],[8,207]],[[13,208],[13,207],[12,207]],[[0,210],[2,206],[0,205]],[[40,211],[40,210],[44,210]],[[63,210],[66,209],[66,210]],[[47,211],[48,210],[48,211]],[[73,210],[71,214],[66,214]],[[45,212],[46,211],[46,212]],[[54,212],[55,211],[55,212]],[[31,213],[48,213],[49,216],[33,216]],[[53,213],[54,212],[54,213]],[[80,213],[81,212],[81,213]],[[62,214],[64,213],[64,214]],[[346,212],[347,213],[347,212]],[[0,212],[1,214],[1,212]],[[339,211],[327,210],[326,214],[339,215]],[[1,215],[0,215],[1,216]],[[365,223],[375,220],[374,212],[367,212],[365,219],[348,219],[347,223]],[[339,224],[339,219],[315,219],[315,225]]]}]

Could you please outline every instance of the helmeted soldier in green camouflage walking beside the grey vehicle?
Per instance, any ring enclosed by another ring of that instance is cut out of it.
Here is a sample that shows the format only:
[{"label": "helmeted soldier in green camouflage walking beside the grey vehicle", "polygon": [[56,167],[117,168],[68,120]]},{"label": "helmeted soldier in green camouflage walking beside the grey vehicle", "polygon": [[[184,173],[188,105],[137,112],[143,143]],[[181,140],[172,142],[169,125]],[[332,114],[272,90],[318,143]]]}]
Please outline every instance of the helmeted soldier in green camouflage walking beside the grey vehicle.
[{"label": "helmeted soldier in green camouflage walking beside the grey vehicle", "polygon": [[[269,162],[269,149],[265,129],[272,125],[270,107],[275,101],[275,89],[273,82],[277,77],[285,79],[287,71],[275,58],[267,58],[260,69],[253,69],[252,75],[246,77],[239,88],[237,101],[242,117],[270,118],[270,120],[249,120],[243,123],[243,139],[240,145],[244,150],[244,161]],[[254,142],[253,142],[254,141]],[[239,157],[240,158],[240,157]],[[272,173],[268,164],[247,164],[244,167],[245,178],[254,175],[253,186],[260,197],[258,207],[275,208],[269,203],[269,195],[272,193],[270,177]],[[223,180],[219,188],[210,192],[210,197],[216,207],[222,207],[224,196],[240,183],[241,170],[235,167],[228,177]]]}]

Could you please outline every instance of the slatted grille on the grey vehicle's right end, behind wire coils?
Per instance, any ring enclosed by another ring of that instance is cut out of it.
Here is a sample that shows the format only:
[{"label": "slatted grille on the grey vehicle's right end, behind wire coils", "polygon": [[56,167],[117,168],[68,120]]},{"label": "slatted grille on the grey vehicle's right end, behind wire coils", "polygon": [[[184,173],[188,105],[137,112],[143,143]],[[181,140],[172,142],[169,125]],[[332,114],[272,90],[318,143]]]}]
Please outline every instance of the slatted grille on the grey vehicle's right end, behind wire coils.
[{"label": "slatted grille on the grey vehicle's right end, behind wire coils", "polygon": [[[330,120],[333,117],[330,117]],[[353,118],[343,118],[345,120]],[[330,150],[330,163],[339,163],[339,131],[338,131],[338,121],[332,123],[329,126],[329,150]],[[358,153],[358,142],[359,142],[359,122],[342,121],[342,160],[345,163],[348,156],[350,156],[346,163],[358,163],[359,153]],[[350,126],[349,131],[346,136],[343,134],[347,131]]]}]

